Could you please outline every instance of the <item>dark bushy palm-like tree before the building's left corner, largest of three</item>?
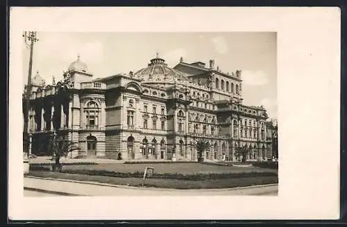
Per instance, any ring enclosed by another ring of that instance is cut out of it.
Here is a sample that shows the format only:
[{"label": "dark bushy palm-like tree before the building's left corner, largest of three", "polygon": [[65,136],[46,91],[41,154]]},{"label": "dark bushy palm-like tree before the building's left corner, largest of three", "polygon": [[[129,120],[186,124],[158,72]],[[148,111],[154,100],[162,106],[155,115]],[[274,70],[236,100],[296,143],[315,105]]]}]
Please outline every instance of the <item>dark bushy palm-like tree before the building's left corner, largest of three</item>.
[{"label": "dark bushy palm-like tree before the building's left corner, largest of three", "polygon": [[49,152],[55,158],[56,161],[55,169],[53,169],[53,171],[60,172],[60,158],[62,156],[66,157],[70,152],[79,149],[79,147],[76,147],[75,145],[76,142],[66,139],[65,136],[58,138],[56,134],[53,135],[49,143]]}]

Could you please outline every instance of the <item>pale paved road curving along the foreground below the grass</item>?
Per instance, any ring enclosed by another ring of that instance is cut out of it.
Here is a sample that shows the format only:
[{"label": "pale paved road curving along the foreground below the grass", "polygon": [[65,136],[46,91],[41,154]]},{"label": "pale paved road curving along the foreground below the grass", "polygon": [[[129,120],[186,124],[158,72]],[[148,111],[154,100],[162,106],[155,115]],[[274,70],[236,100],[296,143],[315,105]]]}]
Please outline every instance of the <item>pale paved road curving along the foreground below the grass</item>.
[{"label": "pale paved road curving along the foreground below the grass", "polygon": [[[176,190],[163,188],[133,188],[133,187],[112,187],[110,185],[97,185],[89,183],[76,183],[71,181],[56,181],[51,179],[38,179],[24,177],[24,187],[36,188],[39,190],[68,193],[81,196],[158,196],[158,195],[273,195],[278,193],[278,185],[264,187],[249,187],[239,189],[205,189],[205,190]],[[26,194],[28,194],[26,192]],[[33,194],[33,193],[31,193]],[[31,195],[28,195],[31,196]]]}]

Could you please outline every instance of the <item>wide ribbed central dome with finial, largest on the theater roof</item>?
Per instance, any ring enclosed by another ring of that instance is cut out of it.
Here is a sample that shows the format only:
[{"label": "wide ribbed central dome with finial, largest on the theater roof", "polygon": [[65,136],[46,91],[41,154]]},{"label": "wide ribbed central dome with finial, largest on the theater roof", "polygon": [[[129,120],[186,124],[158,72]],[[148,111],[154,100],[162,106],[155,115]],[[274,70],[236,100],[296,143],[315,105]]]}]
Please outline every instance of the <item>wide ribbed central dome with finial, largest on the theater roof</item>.
[{"label": "wide ribbed central dome with finial, largest on the theater roof", "polygon": [[183,72],[176,69],[171,69],[165,63],[165,60],[157,57],[151,60],[151,63],[133,74],[134,78],[142,79],[148,83],[167,83],[176,81],[188,81]]}]

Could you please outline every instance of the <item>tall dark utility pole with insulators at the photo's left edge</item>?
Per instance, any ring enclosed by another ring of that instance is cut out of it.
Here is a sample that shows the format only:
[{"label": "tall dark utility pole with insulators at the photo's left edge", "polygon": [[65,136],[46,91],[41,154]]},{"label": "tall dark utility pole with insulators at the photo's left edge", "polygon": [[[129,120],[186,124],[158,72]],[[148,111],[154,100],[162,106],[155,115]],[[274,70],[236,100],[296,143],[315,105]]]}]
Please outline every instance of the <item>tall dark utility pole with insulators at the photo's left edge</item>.
[{"label": "tall dark utility pole with insulators at the photo's left edge", "polygon": [[[29,31],[24,32],[23,34],[25,44],[29,46],[30,48],[30,58],[29,58],[29,71],[28,71],[28,84],[26,85],[26,108],[24,110],[24,142],[28,143],[28,121],[29,121],[29,109],[30,109],[30,94],[31,94],[31,71],[33,69],[33,50],[34,50],[34,43],[37,42],[39,39],[36,38],[36,32]],[[29,42],[29,44],[28,44]],[[29,145],[25,146],[24,152],[26,153],[26,158],[28,158],[28,147]]]}]

